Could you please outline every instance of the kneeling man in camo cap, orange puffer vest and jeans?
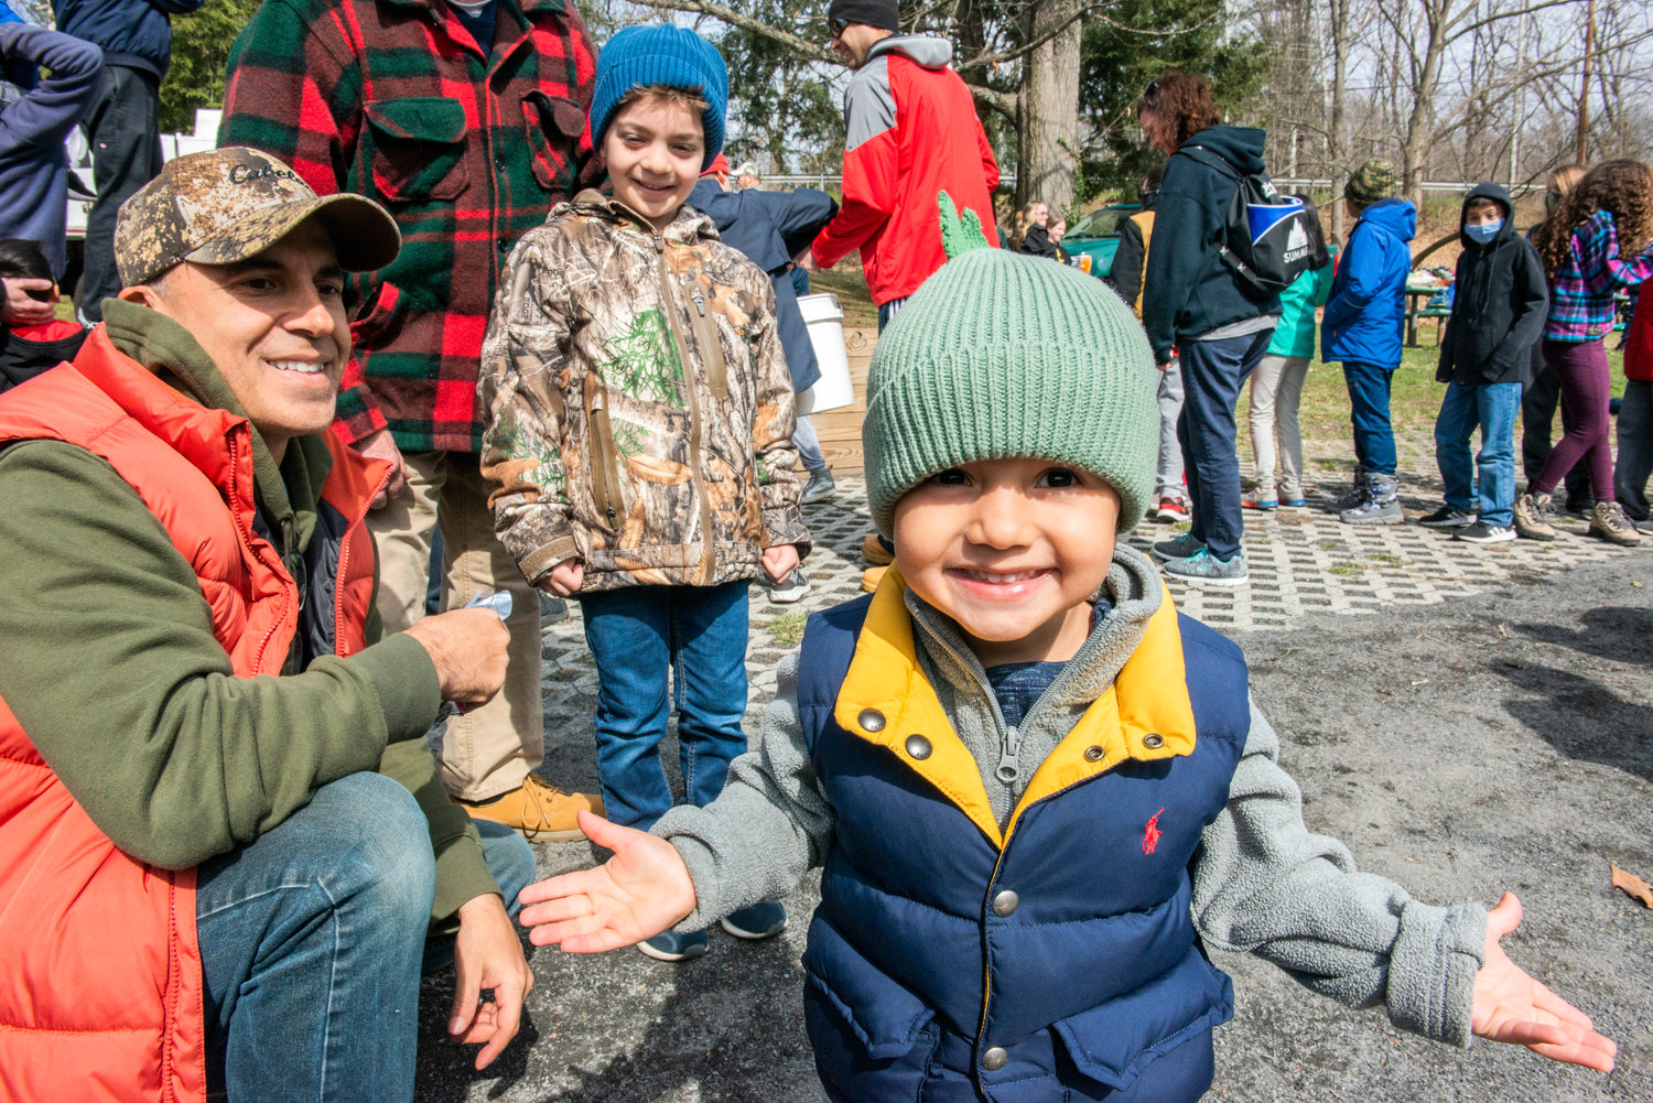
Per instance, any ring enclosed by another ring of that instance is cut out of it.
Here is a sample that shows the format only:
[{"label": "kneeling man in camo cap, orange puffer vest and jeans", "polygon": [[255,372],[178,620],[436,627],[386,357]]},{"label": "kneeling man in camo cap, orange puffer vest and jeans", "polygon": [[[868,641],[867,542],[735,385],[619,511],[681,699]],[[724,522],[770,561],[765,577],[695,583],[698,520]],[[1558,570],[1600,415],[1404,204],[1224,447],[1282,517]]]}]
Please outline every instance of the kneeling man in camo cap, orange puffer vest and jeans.
[{"label": "kneeling man in camo cap, orange puffer vest and jeans", "polygon": [[478,1067],[516,1034],[534,858],[423,739],[501,618],[380,638],[390,465],[327,432],[395,223],[231,147],[114,245],[104,324],[0,395],[0,1096],[410,1100],[422,966]]}]

